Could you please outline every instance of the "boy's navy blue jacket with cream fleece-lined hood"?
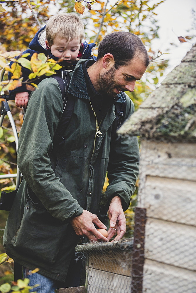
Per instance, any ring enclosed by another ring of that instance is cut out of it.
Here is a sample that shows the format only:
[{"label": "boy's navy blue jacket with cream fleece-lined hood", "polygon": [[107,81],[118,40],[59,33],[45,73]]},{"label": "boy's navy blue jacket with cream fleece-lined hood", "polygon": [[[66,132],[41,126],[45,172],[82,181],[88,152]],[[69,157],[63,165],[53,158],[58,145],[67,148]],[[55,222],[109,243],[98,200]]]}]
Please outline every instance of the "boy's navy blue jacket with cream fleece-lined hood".
[{"label": "boy's navy blue jacket with cream fleece-lined hood", "polygon": [[[56,61],[58,60],[58,57],[53,56],[53,54],[51,54],[50,52],[50,49],[46,47],[45,40],[46,40],[46,32],[45,32],[45,26],[44,26],[43,28],[38,30],[33,40],[30,42],[29,49],[23,52],[23,54],[30,53],[30,55],[26,57],[28,60],[31,60],[31,57],[34,53],[44,53],[45,56],[50,57],[51,59],[54,59]],[[80,52],[78,54],[78,58],[76,59],[76,61],[73,62],[72,64],[63,61],[63,62],[60,62],[60,65],[62,65],[64,69],[74,70],[75,64],[80,59],[96,60],[97,57],[93,56],[91,51],[94,46],[95,46],[94,43],[88,44],[85,40],[82,40],[82,45],[80,47]],[[13,62],[10,62],[10,67],[12,63]],[[28,76],[30,73],[31,71],[29,69],[22,67],[23,81],[26,81],[28,79]],[[12,76],[12,73],[9,72],[8,74],[9,79],[11,79],[11,76]],[[37,79],[36,81],[33,81],[33,82],[35,84],[38,84],[41,80],[47,77],[50,77],[50,76],[45,76],[45,75],[40,76],[40,79]],[[26,89],[26,84],[22,84],[22,86],[15,88],[13,91],[10,91],[10,93],[12,95],[15,95],[18,92],[25,92],[25,91],[29,92],[29,94],[31,93],[30,91]]]}]

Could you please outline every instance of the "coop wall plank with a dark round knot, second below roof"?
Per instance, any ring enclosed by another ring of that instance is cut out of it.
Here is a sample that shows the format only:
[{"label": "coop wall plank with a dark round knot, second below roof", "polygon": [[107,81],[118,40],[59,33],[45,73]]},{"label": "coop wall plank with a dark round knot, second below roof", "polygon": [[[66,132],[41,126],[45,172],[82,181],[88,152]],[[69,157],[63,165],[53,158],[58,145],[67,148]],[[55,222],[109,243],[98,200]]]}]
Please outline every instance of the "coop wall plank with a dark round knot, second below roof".
[{"label": "coop wall plank with a dark round knot, second below roof", "polygon": [[147,217],[196,226],[196,182],[146,177],[141,190]]}]

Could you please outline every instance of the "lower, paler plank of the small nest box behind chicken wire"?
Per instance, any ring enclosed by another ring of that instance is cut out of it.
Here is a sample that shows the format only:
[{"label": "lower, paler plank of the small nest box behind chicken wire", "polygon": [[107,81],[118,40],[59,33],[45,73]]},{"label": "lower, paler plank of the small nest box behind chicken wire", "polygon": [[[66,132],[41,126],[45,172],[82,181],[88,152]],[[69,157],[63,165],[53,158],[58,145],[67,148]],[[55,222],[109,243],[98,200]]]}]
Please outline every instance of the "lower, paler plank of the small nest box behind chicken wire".
[{"label": "lower, paler plank of the small nest box behind chicken wire", "polygon": [[130,293],[131,277],[89,268],[87,292]]}]

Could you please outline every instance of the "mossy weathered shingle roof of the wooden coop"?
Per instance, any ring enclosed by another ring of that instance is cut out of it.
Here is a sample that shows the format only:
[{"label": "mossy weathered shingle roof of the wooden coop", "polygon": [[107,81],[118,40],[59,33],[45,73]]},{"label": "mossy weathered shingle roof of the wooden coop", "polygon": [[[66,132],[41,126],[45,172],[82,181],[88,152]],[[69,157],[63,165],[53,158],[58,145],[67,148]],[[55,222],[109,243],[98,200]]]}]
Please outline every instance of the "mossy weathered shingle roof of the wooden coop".
[{"label": "mossy weathered shingle roof of the wooden coop", "polygon": [[196,44],[118,133],[146,139],[196,141]]}]

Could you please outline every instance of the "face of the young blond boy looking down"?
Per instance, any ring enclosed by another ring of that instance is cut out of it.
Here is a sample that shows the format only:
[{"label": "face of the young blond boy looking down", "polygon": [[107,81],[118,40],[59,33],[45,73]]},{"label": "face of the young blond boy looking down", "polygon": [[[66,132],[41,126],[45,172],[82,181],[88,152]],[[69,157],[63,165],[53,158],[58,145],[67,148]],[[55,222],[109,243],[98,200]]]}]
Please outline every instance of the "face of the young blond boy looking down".
[{"label": "face of the young blond boy looking down", "polygon": [[[46,44],[49,47],[47,40]],[[51,53],[55,57],[63,58],[63,60],[65,60],[66,62],[72,63],[78,56],[80,50],[80,39],[73,39],[71,41],[67,41],[57,36],[53,40],[53,45],[51,45],[51,47],[49,48]]]}]

